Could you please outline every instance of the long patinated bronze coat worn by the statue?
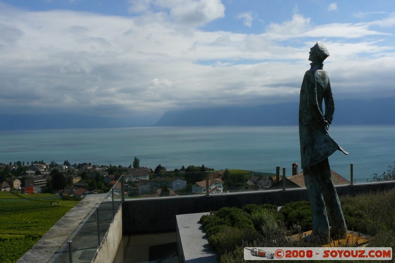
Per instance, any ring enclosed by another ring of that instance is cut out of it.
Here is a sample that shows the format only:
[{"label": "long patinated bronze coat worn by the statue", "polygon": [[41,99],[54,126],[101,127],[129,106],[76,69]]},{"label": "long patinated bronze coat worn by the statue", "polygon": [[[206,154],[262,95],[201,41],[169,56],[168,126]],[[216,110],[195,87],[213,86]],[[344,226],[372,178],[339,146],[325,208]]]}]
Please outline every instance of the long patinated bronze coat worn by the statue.
[{"label": "long patinated bronze coat worn by the statue", "polygon": [[[325,102],[325,115],[322,113],[322,101]],[[299,101],[302,169],[324,160],[339,148],[326,131],[324,122],[332,122],[334,111],[328,74],[317,68],[308,70],[303,78]]]}]

